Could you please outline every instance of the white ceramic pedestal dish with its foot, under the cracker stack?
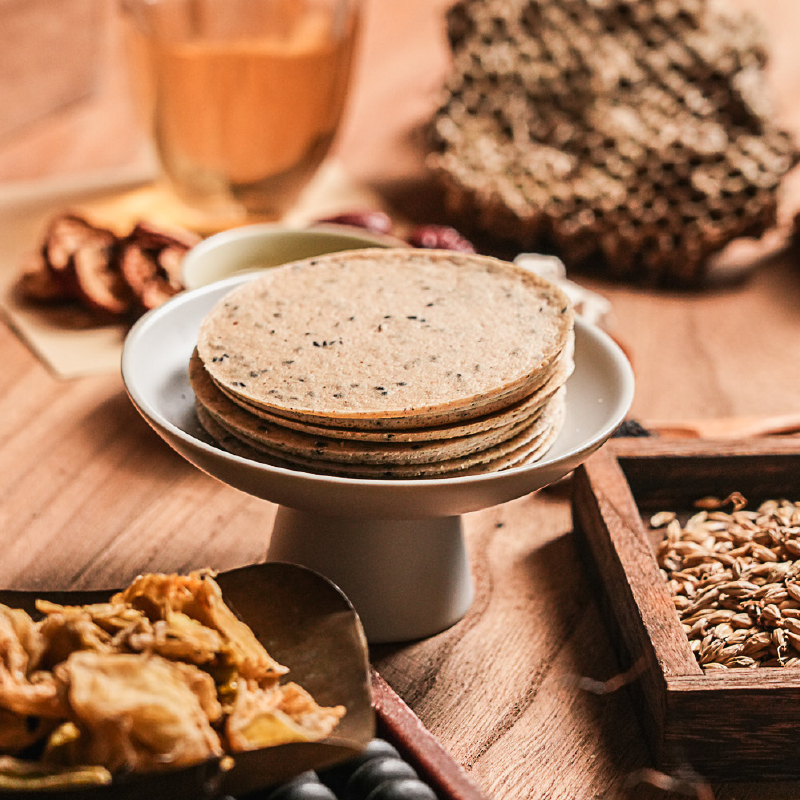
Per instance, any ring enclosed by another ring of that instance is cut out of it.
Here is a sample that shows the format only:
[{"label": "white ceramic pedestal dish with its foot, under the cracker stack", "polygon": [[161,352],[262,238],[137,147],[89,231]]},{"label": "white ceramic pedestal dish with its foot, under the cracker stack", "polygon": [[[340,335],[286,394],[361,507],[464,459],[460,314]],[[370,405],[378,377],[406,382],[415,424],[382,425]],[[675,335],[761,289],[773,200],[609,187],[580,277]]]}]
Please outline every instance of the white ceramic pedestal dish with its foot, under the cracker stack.
[{"label": "white ceramic pedestal dish with its foot, under the cracker stack", "polygon": [[205,315],[251,279],[185,292],[142,317],[125,341],[123,380],[144,418],[188,461],[280,506],[269,559],[303,564],[337,583],[371,642],[429,636],[460,619],[472,599],[460,515],[566,475],[613,433],[633,399],[625,356],[577,320],[564,426],[536,464],[455,478],[361,480],[250,461],[209,442],[194,414],[187,366]]}]

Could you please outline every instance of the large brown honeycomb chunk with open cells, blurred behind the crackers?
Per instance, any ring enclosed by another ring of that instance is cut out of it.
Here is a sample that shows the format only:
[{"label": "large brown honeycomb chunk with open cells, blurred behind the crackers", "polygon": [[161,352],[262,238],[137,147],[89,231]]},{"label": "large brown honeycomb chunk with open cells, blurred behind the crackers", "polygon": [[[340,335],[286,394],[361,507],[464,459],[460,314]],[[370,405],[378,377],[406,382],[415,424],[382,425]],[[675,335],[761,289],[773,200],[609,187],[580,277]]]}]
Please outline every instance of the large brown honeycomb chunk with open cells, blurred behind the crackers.
[{"label": "large brown honeycomb chunk with open cells, blurred behind the crackers", "polygon": [[[758,26],[703,0],[460,0],[430,165],[451,213],[625,279],[698,282],[797,162]],[[463,223],[462,223],[463,224]]]}]

